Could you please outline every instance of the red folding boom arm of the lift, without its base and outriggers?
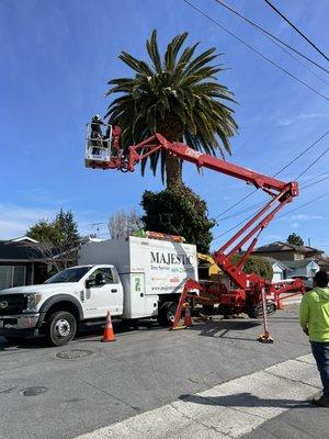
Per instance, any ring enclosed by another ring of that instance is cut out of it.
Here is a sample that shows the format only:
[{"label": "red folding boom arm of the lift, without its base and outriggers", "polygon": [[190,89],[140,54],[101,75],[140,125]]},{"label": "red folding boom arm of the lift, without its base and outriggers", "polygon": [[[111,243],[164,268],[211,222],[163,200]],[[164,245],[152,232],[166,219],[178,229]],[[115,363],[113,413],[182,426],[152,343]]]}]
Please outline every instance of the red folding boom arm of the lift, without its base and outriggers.
[{"label": "red folding boom arm of the lift, without its base and outriggers", "polygon": [[[120,130],[117,131],[117,137]],[[114,145],[118,145],[117,138],[114,138]],[[102,169],[121,169],[123,171],[134,171],[135,166],[144,158],[150,156],[158,150],[167,150],[179,159],[190,161],[197,167],[212,169],[227,176],[243,180],[253,184],[257,189],[266,192],[271,200],[262,207],[243,227],[236,233],[218,251],[215,252],[215,261],[228,274],[231,281],[245,292],[260,291],[262,286],[266,286],[268,291],[274,291],[271,284],[257,274],[246,274],[242,272],[243,264],[252,252],[258,236],[264,227],[273,219],[275,214],[294,196],[298,195],[298,183],[296,181],[283,182],[272,177],[266,177],[251,169],[243,168],[238,165],[229,164],[216,157],[208,156],[203,153],[195,151],[183,143],[170,143],[160,134],[147,138],[146,140],[131,146],[128,155],[124,155],[117,149],[116,155],[111,158],[107,164],[94,164],[95,168]],[[247,251],[238,264],[231,262],[231,257],[237,254],[241,247],[249,241]],[[230,248],[230,250],[228,250]],[[227,250],[227,251],[226,251]]]}]

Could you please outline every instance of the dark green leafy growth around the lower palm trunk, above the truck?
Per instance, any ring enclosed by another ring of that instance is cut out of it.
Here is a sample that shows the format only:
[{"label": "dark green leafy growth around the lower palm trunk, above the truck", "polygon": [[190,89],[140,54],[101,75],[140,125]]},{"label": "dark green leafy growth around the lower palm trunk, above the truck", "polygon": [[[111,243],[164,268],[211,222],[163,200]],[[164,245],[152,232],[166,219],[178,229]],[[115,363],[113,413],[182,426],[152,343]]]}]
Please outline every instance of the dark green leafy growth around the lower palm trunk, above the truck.
[{"label": "dark green leafy growth around the lower palm trunk, above the truck", "polygon": [[208,252],[215,221],[208,219],[206,203],[186,187],[155,193],[145,191],[143,222],[148,230],[183,236],[201,252]]}]

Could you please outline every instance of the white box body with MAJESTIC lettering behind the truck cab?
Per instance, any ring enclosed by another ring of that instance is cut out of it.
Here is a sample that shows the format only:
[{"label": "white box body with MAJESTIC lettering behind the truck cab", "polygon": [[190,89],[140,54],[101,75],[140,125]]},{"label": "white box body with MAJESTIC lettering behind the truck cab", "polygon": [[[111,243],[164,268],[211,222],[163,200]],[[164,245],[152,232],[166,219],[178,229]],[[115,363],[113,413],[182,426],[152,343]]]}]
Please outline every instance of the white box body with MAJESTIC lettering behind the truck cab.
[{"label": "white box body with MAJESTIC lettering behind the truck cab", "polygon": [[186,279],[197,280],[196,247],[190,244],[133,236],[91,241],[81,247],[78,261],[116,267],[124,289],[123,318],[157,316],[161,306],[178,302]]}]

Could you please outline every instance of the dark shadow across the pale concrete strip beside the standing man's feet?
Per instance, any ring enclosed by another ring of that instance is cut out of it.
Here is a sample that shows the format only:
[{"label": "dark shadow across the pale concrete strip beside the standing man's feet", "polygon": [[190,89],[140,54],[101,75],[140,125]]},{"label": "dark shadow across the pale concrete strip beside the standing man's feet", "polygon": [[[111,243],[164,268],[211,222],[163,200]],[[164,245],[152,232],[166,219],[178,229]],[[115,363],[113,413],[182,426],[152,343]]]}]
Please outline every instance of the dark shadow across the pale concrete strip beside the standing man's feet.
[{"label": "dark shadow across the pale concrete strip beside the standing man's feet", "polygon": [[310,408],[315,407],[310,401],[297,399],[265,399],[251,393],[237,393],[224,396],[181,395],[181,401],[202,405],[223,407],[273,407],[273,408]]}]

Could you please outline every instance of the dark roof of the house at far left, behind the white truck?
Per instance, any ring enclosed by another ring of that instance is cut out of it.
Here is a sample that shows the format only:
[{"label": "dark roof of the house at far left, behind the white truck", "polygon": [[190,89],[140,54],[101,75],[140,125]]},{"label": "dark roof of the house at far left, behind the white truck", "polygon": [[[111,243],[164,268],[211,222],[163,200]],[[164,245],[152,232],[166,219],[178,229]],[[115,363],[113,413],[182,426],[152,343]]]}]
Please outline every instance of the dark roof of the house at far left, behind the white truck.
[{"label": "dark roof of the house at far left, behind the white truck", "polygon": [[1,261],[26,261],[35,259],[43,259],[41,243],[0,240]]}]

